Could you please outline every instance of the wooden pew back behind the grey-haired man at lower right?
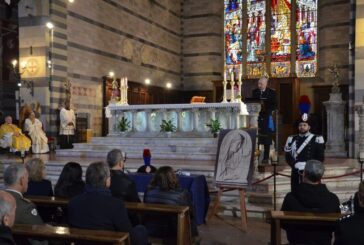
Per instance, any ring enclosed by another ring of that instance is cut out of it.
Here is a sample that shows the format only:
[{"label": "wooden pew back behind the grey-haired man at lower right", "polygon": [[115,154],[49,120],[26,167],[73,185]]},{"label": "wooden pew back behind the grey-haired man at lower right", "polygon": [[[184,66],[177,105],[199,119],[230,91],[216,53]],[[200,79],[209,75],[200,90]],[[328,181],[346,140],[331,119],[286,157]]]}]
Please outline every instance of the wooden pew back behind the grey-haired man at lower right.
[{"label": "wooden pew back behind the grey-haired man at lower right", "polygon": [[309,224],[317,226],[334,225],[342,217],[340,213],[305,213],[288,211],[271,211],[271,245],[281,244],[282,224]]}]

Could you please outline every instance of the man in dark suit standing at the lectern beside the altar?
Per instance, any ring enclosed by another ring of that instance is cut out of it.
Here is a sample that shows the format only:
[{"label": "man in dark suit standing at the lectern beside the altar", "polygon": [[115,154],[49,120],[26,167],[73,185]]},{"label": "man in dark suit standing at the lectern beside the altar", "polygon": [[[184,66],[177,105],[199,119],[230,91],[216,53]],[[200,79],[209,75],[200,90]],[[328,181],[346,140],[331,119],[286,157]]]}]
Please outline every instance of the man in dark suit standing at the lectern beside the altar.
[{"label": "man in dark suit standing at the lectern beside the altar", "polygon": [[269,149],[272,144],[274,132],[272,113],[277,108],[276,91],[268,87],[268,76],[258,81],[258,88],[253,90],[253,98],[261,101],[261,110],[258,117],[258,144],[264,145],[262,164],[269,161]]}]

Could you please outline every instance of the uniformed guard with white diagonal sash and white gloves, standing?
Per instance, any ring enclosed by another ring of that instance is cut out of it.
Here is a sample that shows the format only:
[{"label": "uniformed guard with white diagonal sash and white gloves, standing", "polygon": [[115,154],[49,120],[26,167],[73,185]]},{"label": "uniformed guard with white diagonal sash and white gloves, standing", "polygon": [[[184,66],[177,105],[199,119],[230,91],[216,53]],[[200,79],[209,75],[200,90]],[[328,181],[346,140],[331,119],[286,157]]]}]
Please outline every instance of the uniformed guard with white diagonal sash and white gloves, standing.
[{"label": "uniformed guard with white diagonal sash and white gloves, standing", "polygon": [[286,161],[291,166],[291,191],[302,181],[302,171],[308,160],[323,162],[325,159],[324,138],[310,132],[311,120],[308,114],[303,114],[298,121],[298,134],[287,138],[284,151]]}]

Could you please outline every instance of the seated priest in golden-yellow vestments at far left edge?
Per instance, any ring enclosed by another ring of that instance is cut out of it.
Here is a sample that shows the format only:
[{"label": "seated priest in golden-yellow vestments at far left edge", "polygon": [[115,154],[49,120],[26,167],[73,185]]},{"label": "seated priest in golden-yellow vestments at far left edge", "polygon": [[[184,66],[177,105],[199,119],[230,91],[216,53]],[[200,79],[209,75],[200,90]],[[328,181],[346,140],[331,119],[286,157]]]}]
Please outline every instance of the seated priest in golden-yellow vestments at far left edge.
[{"label": "seated priest in golden-yellow vestments at far left edge", "polygon": [[10,147],[10,151],[17,152],[29,151],[30,145],[30,139],[13,124],[11,116],[5,117],[5,123],[0,127],[0,147]]}]

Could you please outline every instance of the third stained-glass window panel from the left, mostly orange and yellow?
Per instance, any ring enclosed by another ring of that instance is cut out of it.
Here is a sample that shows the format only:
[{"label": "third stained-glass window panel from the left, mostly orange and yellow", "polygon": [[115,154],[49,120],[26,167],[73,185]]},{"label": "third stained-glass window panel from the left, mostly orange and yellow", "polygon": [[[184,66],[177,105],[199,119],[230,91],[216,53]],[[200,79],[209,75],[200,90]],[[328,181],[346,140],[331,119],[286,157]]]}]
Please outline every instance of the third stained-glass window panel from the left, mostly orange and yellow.
[{"label": "third stained-glass window panel from the left, mostly orange and yellow", "polygon": [[291,0],[271,2],[271,73],[287,77],[291,60]]}]

